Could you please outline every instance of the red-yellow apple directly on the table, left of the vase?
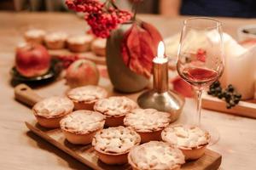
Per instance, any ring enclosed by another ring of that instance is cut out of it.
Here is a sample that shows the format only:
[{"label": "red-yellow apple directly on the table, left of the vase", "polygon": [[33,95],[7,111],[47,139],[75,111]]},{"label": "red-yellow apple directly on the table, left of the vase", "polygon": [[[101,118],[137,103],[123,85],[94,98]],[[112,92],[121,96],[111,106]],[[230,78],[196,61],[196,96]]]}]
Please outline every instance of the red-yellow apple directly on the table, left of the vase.
[{"label": "red-yellow apple directly on the table, left of the vase", "polygon": [[79,59],[67,68],[67,84],[71,88],[85,85],[97,85],[100,74],[96,64],[90,60]]}]

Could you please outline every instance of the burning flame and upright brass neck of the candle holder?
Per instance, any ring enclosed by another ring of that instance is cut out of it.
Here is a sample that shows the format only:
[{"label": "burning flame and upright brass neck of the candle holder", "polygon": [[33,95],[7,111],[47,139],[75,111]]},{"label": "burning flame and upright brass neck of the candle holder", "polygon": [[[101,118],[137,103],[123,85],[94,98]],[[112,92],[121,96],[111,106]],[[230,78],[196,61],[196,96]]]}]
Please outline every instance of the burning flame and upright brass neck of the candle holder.
[{"label": "burning flame and upright brass neck of the candle holder", "polygon": [[165,56],[164,42],[160,42],[157,49],[157,56],[153,59],[154,89],[158,93],[165,93],[168,90],[168,59]]}]

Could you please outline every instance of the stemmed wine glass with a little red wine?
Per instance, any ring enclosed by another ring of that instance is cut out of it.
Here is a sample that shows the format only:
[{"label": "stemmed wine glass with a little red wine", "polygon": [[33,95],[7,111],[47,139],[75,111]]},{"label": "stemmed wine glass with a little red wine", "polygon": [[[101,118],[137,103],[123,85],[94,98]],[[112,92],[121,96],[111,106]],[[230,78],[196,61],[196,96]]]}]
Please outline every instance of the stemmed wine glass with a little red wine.
[{"label": "stemmed wine glass with a little red wine", "polygon": [[[204,88],[218,80],[224,71],[224,44],[220,21],[195,17],[183,22],[177,59],[177,72],[197,92],[197,121],[193,124],[211,134],[210,144],[218,141],[218,132],[201,126],[201,95]],[[213,129],[214,130],[214,129]]]}]

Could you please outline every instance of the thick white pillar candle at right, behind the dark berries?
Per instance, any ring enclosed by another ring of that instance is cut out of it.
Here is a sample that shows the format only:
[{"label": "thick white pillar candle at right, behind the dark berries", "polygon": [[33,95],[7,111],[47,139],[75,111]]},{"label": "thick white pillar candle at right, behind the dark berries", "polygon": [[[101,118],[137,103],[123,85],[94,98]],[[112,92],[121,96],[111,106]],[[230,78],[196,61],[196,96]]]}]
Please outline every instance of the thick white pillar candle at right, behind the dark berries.
[{"label": "thick white pillar candle at right, behind the dark berries", "polygon": [[256,47],[243,48],[230,36],[224,35],[225,66],[221,78],[224,87],[232,84],[241,99],[253,99]]}]

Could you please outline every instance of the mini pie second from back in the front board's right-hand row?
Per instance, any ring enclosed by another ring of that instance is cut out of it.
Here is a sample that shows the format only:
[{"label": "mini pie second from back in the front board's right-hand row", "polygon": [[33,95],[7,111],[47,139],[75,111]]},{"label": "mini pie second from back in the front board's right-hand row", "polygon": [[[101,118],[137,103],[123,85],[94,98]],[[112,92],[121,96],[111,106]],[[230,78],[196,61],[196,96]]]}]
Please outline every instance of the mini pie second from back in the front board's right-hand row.
[{"label": "mini pie second from back in the front board's right-hand row", "polygon": [[108,127],[124,125],[125,115],[137,108],[137,103],[126,97],[113,96],[108,99],[99,99],[94,105],[94,110],[107,116]]}]

